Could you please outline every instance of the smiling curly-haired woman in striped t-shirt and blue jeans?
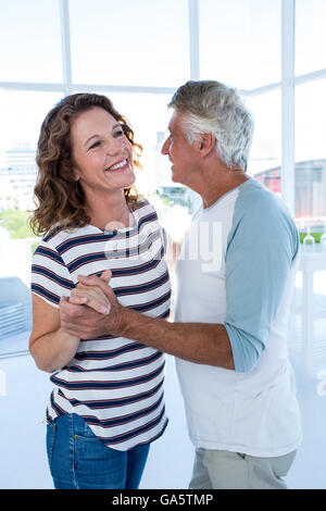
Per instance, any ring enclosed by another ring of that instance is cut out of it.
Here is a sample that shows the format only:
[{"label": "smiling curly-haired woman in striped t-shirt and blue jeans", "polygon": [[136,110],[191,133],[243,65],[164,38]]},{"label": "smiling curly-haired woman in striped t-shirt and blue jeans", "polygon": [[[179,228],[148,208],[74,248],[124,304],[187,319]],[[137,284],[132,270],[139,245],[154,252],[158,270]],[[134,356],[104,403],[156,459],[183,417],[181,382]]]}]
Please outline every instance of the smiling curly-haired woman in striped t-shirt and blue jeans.
[{"label": "smiling curly-haired woman in striped t-shirt and blue jeans", "polygon": [[167,423],[161,352],[109,332],[79,339],[60,324],[60,300],[77,275],[108,270],[123,304],[168,316],[158,216],[133,186],[140,149],[104,96],[68,96],[41,126],[32,226],[43,237],[33,260],[29,350],[53,373],[47,450],[55,488],[137,488]]}]

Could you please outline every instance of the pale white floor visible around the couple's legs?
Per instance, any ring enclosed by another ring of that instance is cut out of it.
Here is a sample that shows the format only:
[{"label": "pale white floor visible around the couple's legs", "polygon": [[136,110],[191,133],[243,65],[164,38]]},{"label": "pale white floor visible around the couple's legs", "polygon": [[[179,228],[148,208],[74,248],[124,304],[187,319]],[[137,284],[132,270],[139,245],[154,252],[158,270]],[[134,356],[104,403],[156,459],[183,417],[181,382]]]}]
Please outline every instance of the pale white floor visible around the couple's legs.
[{"label": "pale white floor visible around the couple's legs", "polygon": [[[315,374],[309,377],[298,360],[293,359],[292,363],[304,440],[288,475],[288,486],[326,488],[326,395],[318,391],[322,382],[316,377],[326,366],[316,367]],[[326,372],[324,379],[326,391]],[[49,375],[37,370],[28,354],[0,359],[1,489],[52,488],[42,423],[50,389]],[[170,426],[152,446],[142,478],[143,489],[184,489],[191,475],[193,451],[172,357],[167,357],[165,389]]]}]

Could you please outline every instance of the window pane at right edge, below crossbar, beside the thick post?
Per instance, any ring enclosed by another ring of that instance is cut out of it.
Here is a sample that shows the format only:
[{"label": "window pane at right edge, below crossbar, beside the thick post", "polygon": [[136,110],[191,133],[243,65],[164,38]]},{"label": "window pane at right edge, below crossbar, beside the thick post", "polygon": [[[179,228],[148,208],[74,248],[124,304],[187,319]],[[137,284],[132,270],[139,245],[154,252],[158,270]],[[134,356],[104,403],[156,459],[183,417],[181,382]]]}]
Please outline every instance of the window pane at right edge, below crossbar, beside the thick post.
[{"label": "window pane at right edge, below crossbar, beside the thick post", "polygon": [[296,216],[310,217],[323,228],[326,220],[325,90],[326,79],[296,89]]}]

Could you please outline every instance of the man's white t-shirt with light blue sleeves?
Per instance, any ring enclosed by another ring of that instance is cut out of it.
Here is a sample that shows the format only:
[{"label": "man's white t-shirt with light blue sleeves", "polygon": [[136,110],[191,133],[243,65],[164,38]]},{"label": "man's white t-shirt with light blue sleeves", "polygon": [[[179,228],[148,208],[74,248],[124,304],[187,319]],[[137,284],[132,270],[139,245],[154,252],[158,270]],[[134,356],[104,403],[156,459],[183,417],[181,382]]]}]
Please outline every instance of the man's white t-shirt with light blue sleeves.
[{"label": "man's white t-shirt with light blue sleeves", "polygon": [[177,263],[176,322],[224,324],[235,371],[176,359],[197,447],[276,457],[301,441],[287,326],[299,238],[250,179],[193,217]]}]

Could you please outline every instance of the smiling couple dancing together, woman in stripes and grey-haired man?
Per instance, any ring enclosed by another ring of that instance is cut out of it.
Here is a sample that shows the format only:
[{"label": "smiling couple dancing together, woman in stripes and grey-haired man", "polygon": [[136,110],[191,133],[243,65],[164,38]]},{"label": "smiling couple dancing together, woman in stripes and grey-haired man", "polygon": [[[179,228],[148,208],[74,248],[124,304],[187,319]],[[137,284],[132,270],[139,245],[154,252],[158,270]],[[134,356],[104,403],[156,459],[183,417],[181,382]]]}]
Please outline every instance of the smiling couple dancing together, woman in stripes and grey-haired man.
[{"label": "smiling couple dancing together, woman in stripes and grey-haired man", "polygon": [[[172,179],[202,198],[179,247],[174,322],[176,250],[134,187],[141,147],[126,119],[106,97],[77,94],[41,126],[29,349],[54,384],[54,487],[139,487],[167,424],[171,353],[196,448],[189,488],[286,488],[301,441],[286,342],[296,225],[246,174],[253,123],[235,89],[188,82],[170,108],[162,153]],[[203,224],[218,265],[189,256]]]}]

